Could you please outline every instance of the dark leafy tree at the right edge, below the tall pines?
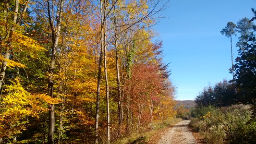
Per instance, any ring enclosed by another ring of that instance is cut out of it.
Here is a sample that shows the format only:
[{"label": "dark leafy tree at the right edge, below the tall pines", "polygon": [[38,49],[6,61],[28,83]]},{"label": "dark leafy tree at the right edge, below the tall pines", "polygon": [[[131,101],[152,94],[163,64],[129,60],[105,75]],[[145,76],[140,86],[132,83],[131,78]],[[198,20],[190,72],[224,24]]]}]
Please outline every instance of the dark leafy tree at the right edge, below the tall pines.
[{"label": "dark leafy tree at the right edge, below the tall pines", "polygon": [[253,104],[256,99],[256,38],[249,37],[236,58],[235,82],[243,103]]}]

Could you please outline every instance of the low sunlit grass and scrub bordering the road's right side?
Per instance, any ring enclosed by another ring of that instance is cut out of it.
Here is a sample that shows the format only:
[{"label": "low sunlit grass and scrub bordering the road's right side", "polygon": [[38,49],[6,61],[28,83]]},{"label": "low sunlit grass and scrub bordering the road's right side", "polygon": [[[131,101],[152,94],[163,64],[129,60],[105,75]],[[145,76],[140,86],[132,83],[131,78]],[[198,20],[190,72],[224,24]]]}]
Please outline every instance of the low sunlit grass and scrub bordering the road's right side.
[{"label": "low sunlit grass and scrub bordering the road's right side", "polygon": [[191,126],[209,144],[251,144],[256,142],[256,120],[246,105],[227,108],[198,108]]}]

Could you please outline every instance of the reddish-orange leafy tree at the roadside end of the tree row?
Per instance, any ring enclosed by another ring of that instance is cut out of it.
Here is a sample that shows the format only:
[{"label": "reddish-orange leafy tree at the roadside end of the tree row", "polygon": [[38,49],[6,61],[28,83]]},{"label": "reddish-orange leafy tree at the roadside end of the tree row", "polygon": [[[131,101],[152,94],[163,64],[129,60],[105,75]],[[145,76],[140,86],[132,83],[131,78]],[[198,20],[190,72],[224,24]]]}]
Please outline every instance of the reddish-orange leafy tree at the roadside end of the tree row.
[{"label": "reddish-orange leafy tree at the roadside end of the tree row", "polygon": [[131,79],[125,82],[125,95],[131,101],[129,107],[142,125],[174,116],[174,99],[170,94],[173,89],[166,86],[169,82],[162,71],[158,64],[134,64]]}]

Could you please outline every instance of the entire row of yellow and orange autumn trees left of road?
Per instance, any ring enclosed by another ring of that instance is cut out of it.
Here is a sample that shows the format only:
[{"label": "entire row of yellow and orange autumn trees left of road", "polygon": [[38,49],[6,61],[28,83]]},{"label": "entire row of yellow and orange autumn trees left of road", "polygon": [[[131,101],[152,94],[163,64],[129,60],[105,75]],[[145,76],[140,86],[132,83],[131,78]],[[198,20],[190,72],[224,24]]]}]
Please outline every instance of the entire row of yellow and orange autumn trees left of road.
[{"label": "entire row of yellow and orange autumn trees left of road", "polygon": [[110,143],[174,116],[168,0],[3,0],[0,143]]}]

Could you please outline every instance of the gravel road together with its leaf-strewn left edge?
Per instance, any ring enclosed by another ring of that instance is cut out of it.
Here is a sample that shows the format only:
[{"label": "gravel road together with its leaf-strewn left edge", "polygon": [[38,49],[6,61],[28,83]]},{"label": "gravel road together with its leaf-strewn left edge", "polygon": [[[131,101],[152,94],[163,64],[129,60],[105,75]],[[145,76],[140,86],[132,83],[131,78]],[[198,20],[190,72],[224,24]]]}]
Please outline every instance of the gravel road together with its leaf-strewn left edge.
[{"label": "gravel road together with its leaf-strewn left edge", "polygon": [[202,144],[189,129],[190,120],[183,120],[173,126],[155,132],[148,144]]}]

